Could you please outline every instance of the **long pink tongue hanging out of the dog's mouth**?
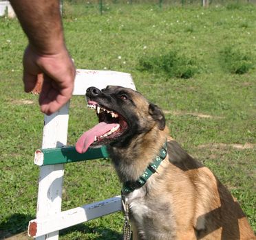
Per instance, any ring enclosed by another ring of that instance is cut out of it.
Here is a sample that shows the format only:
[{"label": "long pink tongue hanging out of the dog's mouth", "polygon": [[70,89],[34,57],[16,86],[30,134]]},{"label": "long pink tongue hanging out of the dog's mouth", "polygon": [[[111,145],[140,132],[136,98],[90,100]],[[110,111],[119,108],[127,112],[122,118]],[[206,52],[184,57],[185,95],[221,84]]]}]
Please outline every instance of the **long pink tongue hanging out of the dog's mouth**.
[{"label": "long pink tongue hanging out of the dog's mouth", "polygon": [[112,128],[116,127],[118,123],[107,124],[100,122],[94,128],[85,132],[76,142],[76,151],[83,154],[87,151],[88,147],[94,143],[95,136],[99,137],[109,132]]}]

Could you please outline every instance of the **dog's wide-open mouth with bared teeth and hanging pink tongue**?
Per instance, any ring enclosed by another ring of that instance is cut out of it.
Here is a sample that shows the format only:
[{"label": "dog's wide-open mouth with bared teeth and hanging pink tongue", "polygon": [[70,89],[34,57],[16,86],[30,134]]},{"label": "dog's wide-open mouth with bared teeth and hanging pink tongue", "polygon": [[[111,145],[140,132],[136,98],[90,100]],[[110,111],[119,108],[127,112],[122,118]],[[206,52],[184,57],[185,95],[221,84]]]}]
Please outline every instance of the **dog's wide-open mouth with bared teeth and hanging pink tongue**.
[{"label": "dog's wide-open mouth with bared teeth and hanging pink tongue", "polygon": [[127,130],[127,121],[118,112],[101,106],[96,101],[88,101],[88,108],[96,110],[99,123],[85,132],[76,143],[76,151],[84,153],[91,145],[110,143]]}]

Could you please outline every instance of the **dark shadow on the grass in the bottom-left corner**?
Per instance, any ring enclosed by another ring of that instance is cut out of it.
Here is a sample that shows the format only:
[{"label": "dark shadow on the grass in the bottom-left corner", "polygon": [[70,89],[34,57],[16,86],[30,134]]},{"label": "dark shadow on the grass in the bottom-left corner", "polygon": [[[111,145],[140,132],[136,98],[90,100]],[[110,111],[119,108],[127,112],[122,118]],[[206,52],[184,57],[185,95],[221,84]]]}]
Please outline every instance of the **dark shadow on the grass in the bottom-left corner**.
[{"label": "dark shadow on the grass in the bottom-left corner", "polygon": [[34,219],[32,215],[25,215],[21,213],[14,213],[8,218],[8,221],[1,221],[0,223],[0,239],[12,237],[20,232],[28,229],[28,222]]}]

